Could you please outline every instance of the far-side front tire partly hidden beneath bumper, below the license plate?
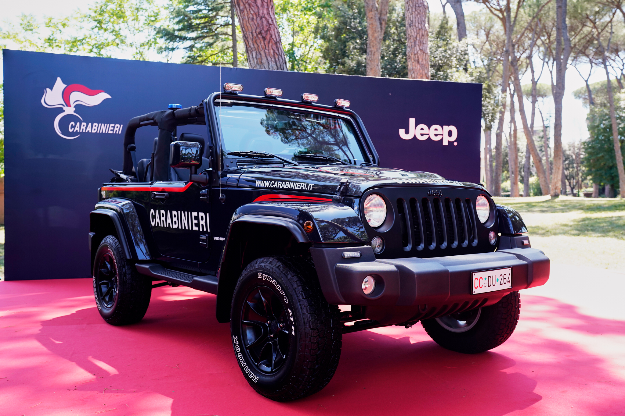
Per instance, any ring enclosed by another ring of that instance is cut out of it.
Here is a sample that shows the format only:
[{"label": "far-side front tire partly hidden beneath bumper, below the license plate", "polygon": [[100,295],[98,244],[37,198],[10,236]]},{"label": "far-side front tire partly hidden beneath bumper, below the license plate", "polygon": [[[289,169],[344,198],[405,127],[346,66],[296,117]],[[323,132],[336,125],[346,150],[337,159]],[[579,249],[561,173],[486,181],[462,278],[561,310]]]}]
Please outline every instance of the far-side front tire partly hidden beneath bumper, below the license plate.
[{"label": "far-side front tire partly hidden beneath bumper, below the license plate", "polygon": [[451,351],[476,354],[498,347],[519,321],[521,296],[512,292],[491,306],[425,319],[421,325],[436,344]]}]

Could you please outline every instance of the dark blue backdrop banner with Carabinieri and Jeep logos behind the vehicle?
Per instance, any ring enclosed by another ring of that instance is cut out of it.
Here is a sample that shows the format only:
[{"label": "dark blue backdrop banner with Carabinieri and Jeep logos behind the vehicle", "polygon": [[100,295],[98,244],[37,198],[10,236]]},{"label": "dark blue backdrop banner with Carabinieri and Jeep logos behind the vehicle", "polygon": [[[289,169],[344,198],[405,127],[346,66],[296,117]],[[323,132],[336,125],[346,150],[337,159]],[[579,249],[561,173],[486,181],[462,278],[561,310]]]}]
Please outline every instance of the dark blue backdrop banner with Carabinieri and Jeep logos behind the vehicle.
[{"label": "dark blue backdrop banner with Carabinieri and Jeep logos behind the vehicle", "polygon": [[[286,99],[311,92],[319,104],[350,100],[382,167],[479,181],[480,84],[8,50],[2,56],[7,280],[89,277],[89,212],[109,168],[121,170],[128,120],[172,103],[197,105],[224,82],[243,84],[246,94],[275,87]],[[156,135],[156,127],[138,130],[138,159],[149,158]]]}]

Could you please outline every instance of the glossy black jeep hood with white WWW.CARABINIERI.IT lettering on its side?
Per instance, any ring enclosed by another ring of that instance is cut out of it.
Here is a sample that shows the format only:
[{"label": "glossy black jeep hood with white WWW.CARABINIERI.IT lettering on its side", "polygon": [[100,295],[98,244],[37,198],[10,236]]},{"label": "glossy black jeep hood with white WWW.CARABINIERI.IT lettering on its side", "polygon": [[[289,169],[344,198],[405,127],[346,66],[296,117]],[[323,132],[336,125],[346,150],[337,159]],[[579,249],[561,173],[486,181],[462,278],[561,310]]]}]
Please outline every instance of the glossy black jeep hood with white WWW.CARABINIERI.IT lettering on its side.
[{"label": "glossy black jeep hood with white WWW.CARABINIERI.IT lettering on its side", "polygon": [[[345,195],[361,196],[369,188],[387,185],[451,186],[486,189],[476,183],[447,180],[436,173],[409,172],[401,169],[359,166],[250,167],[231,172],[228,185],[277,191],[296,191],[335,195],[342,180],[349,182]],[[234,173],[234,175],[232,175]],[[238,177],[233,181],[232,176]]]}]

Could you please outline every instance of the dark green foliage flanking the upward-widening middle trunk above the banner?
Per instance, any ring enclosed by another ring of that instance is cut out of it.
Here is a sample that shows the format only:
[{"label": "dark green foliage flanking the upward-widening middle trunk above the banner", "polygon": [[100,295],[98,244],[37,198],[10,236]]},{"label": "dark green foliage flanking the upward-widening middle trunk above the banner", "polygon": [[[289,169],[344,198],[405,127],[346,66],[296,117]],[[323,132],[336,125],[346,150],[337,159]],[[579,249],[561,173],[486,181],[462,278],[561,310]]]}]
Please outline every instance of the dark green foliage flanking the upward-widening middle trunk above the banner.
[{"label": "dark green foliage flanking the upward-widening middle trunk above the banner", "polygon": [[[319,26],[324,69],[332,74],[366,75],[367,19],[362,0],[334,0]],[[406,18],[403,2],[389,5],[382,39],[382,77],[406,78]]]}]

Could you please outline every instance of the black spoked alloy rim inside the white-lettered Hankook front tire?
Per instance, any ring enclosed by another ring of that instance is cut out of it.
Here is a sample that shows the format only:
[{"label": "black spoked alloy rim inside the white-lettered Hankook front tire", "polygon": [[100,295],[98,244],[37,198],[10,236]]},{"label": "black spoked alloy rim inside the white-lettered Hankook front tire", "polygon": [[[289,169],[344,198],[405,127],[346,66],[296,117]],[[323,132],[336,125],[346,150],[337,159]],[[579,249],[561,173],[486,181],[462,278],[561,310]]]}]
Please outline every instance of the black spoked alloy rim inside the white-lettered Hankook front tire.
[{"label": "black spoked alloy rim inside the white-lettered Hankook front tire", "polygon": [[278,295],[267,286],[252,289],[241,317],[241,339],[254,364],[267,374],[281,369],[289,352],[289,322]]}]

